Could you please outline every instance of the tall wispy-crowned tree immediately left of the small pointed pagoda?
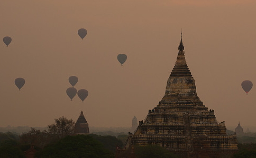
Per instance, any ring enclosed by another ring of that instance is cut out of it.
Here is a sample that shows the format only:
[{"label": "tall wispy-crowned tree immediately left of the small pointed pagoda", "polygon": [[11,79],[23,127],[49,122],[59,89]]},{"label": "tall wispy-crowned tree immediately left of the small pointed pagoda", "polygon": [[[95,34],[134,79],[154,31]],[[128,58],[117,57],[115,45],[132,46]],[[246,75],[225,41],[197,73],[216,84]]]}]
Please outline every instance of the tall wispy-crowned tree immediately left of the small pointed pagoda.
[{"label": "tall wispy-crowned tree immediately left of the small pointed pagoda", "polygon": [[48,131],[50,134],[58,136],[59,139],[74,134],[75,122],[62,116],[59,119],[54,119],[55,123],[48,125]]}]

